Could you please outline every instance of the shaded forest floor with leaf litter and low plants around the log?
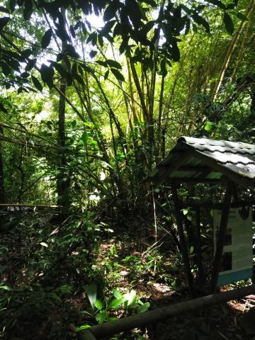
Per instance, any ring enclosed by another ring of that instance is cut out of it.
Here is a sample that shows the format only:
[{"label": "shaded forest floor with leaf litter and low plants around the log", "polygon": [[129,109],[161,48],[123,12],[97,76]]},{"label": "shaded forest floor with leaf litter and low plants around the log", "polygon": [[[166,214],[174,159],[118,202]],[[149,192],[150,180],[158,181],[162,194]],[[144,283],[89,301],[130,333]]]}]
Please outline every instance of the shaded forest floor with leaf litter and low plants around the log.
[{"label": "shaded forest floor with leaf litter and low plants around the log", "polygon": [[[123,232],[120,236],[103,225],[103,233],[94,240],[88,220],[60,226],[52,225],[50,217],[47,213],[8,217],[2,229],[2,339],[76,339],[75,329],[96,324],[96,315],[123,317],[134,314],[140,303],[149,302],[152,310],[188,300],[181,256],[176,255],[169,235],[159,234],[160,242],[154,244],[154,237],[137,233],[132,238]],[[133,229],[137,229],[141,221],[134,223]],[[88,237],[96,248],[85,249],[89,248]],[[86,285],[91,282],[96,283],[98,310],[89,304]],[[107,307],[116,287],[121,294],[135,292],[130,307]],[[245,317],[254,305],[251,297],[213,307],[210,334],[202,330],[204,311],[200,311],[111,339],[255,340],[255,317]]]}]

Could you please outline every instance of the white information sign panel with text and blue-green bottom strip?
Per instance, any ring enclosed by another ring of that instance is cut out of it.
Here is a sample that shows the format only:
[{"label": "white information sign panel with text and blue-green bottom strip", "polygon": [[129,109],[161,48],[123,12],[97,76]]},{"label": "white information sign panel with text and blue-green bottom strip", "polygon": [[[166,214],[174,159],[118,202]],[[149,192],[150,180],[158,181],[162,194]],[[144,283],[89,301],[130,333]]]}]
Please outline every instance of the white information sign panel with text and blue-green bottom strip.
[{"label": "white information sign panel with text and blue-green bottom strip", "polygon": [[[223,211],[224,213],[224,211]],[[214,210],[214,244],[220,229],[222,210]],[[217,285],[225,285],[251,278],[252,267],[252,220],[248,208],[229,211],[220,275]]]}]

